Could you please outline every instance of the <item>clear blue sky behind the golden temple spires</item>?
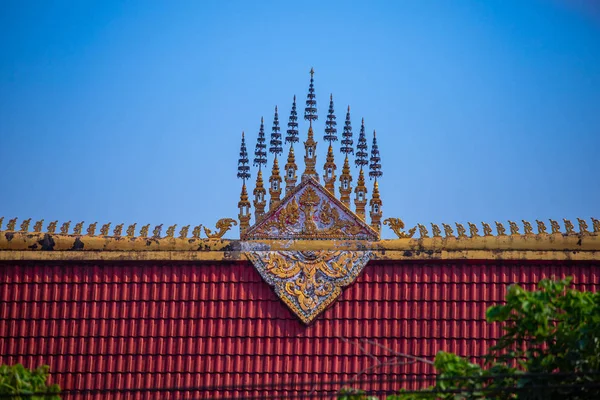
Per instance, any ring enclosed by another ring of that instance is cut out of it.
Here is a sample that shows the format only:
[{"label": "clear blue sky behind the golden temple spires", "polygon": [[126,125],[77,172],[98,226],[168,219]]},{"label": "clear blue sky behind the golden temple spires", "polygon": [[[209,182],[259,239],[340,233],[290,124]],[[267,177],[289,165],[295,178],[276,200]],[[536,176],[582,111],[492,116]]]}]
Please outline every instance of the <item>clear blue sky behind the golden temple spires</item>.
[{"label": "clear blue sky behind the golden temple spires", "polygon": [[319,164],[333,93],[339,133],[348,104],[377,130],[384,218],[600,217],[600,7],[576,0],[3,1],[0,216],[236,218],[241,132],[275,105],[285,130],[311,67]]}]

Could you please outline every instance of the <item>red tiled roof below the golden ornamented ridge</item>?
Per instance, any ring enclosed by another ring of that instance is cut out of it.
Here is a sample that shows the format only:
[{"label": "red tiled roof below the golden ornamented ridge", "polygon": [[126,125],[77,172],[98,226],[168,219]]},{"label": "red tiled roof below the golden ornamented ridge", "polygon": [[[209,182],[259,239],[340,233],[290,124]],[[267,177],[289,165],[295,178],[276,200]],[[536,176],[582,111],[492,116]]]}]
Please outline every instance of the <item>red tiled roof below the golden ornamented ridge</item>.
[{"label": "red tiled roof below the golden ornamented ridge", "polygon": [[[305,326],[246,262],[3,263],[0,364],[49,364],[63,389],[115,390],[94,399],[320,397],[373,356],[393,360],[361,339],[427,359],[445,350],[477,360],[499,333],[485,310],[509,284],[532,289],[568,275],[579,289],[600,289],[598,262],[370,262]],[[417,388],[432,372],[420,362],[380,367],[354,386]],[[161,391],[117,390],[136,388]]]}]

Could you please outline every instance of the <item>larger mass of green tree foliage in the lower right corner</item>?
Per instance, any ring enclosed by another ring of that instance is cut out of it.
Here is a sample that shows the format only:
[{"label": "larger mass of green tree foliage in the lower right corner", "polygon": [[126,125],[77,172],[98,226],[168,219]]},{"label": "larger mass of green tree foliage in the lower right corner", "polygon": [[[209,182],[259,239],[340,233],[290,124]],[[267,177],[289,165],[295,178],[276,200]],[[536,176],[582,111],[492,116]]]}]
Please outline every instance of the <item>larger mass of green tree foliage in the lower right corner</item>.
[{"label": "larger mass of green tree foliage in the lower right corner", "polygon": [[[387,399],[600,399],[600,293],[570,283],[545,279],[535,291],[510,286],[506,303],[487,310],[487,321],[502,323],[504,334],[484,366],[439,352],[434,386]],[[367,399],[346,393],[340,398]]]}]

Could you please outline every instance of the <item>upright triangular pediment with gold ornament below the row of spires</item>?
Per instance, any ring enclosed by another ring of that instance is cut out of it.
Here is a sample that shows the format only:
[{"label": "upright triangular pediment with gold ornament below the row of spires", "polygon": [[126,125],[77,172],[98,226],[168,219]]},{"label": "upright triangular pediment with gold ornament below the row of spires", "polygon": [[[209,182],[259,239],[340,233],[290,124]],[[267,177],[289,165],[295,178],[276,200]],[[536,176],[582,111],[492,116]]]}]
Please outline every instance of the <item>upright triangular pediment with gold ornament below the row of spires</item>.
[{"label": "upright triangular pediment with gold ornament below the row of spires", "polygon": [[379,234],[312,178],[246,231],[243,240],[378,240]]}]

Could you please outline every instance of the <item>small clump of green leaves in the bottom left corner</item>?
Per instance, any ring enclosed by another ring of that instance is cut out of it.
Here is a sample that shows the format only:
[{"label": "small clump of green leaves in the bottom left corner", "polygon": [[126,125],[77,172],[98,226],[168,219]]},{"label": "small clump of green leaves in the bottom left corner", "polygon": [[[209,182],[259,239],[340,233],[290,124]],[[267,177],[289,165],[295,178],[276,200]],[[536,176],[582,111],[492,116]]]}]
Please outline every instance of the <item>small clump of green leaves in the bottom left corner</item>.
[{"label": "small clump of green leaves in the bottom left corner", "polygon": [[[13,366],[0,365],[0,398],[18,400],[60,400],[60,387],[48,385],[50,367],[42,365],[29,370],[21,364]],[[42,394],[43,393],[43,394]],[[6,395],[22,395],[10,396]]]}]

